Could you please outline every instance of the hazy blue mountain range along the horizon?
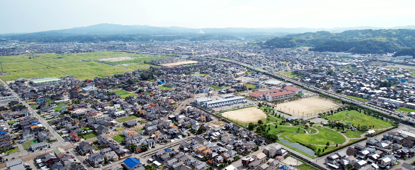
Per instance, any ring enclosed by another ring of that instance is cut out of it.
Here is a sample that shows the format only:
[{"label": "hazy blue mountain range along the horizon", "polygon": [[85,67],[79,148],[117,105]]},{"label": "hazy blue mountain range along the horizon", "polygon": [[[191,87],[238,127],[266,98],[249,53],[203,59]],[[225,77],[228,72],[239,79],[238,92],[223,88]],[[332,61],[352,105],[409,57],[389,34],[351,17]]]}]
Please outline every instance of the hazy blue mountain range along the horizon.
[{"label": "hazy blue mountain range along the horizon", "polygon": [[13,36],[26,34],[29,36],[73,36],[73,35],[109,35],[109,34],[301,34],[307,32],[328,31],[331,33],[341,33],[347,30],[366,30],[366,29],[415,29],[415,25],[399,26],[391,28],[383,27],[336,27],[336,28],[185,28],[185,27],[153,27],[148,25],[119,25],[119,24],[97,24],[87,27],[75,27],[63,30],[51,30],[36,33],[16,33],[0,34],[0,36]]}]

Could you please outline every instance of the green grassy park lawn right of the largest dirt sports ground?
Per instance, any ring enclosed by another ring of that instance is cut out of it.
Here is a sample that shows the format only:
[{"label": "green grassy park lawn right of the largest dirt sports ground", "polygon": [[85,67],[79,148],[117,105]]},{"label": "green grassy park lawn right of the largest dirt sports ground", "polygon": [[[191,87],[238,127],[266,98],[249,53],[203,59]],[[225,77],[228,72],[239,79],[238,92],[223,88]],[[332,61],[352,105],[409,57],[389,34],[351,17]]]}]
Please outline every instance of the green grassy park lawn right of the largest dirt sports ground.
[{"label": "green grassy park lawn right of the largest dirt sports ground", "polygon": [[[349,118],[347,118],[347,111],[342,111],[339,113],[336,113],[332,116],[327,117],[327,119],[336,119],[338,121],[343,119],[343,122],[351,122],[354,126],[360,125],[360,126],[368,126],[372,127],[373,129],[380,129],[380,128],[386,128],[387,126],[392,126],[391,123],[387,122],[386,120],[381,120],[374,118],[372,116],[367,116],[364,113],[359,113],[355,110],[349,111]],[[346,119],[347,118],[347,119]],[[373,127],[374,125],[374,127]]]}]

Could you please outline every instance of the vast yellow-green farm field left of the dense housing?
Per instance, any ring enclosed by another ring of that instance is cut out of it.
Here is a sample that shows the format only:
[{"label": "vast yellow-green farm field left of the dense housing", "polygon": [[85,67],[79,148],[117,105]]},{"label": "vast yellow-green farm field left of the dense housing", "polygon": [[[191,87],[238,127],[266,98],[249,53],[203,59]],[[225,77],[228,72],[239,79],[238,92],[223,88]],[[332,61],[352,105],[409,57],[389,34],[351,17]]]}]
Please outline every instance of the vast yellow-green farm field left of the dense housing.
[{"label": "vast yellow-green farm field left of the dense housing", "polygon": [[[75,76],[85,80],[95,77],[104,78],[114,74],[131,72],[130,69],[145,69],[149,65],[131,65],[129,69],[123,69],[107,65],[104,63],[93,62],[92,59],[123,57],[131,55],[125,52],[85,52],[72,54],[43,53],[32,55],[11,55],[2,56],[0,62],[3,63],[3,72],[10,73],[8,76],[1,76],[5,81],[16,80],[18,78],[36,77],[63,77]],[[58,58],[59,57],[59,58]],[[143,57],[145,60],[163,57]],[[143,60],[140,58],[140,60]],[[84,61],[82,61],[84,60]],[[86,62],[89,61],[89,62]],[[98,61],[98,60],[97,60]],[[132,60],[128,60],[132,61]],[[144,61],[144,60],[143,60]],[[122,62],[122,61],[117,61]],[[124,64],[124,63],[121,63]],[[130,65],[129,65],[130,66]]]}]

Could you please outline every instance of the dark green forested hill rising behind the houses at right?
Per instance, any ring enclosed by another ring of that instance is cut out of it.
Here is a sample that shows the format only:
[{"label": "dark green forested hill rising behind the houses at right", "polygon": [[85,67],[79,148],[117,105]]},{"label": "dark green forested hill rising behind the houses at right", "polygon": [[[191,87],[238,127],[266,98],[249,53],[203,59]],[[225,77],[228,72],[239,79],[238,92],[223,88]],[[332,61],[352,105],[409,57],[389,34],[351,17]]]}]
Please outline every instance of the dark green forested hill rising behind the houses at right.
[{"label": "dark green forested hill rising behind the houses at right", "polygon": [[332,34],[327,31],[288,34],[268,40],[277,48],[311,47],[310,51],[386,53],[415,48],[415,30],[350,30]]}]

